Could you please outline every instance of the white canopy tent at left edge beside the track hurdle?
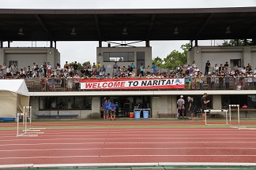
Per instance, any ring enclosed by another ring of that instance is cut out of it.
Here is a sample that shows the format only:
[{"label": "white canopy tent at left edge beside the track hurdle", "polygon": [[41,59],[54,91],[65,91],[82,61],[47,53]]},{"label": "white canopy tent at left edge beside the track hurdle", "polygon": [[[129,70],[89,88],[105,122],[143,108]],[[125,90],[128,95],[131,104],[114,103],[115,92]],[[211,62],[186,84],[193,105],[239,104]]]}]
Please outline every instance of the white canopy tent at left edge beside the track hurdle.
[{"label": "white canopy tent at left edge beside the track hurdle", "polygon": [[0,117],[16,118],[29,105],[29,93],[24,79],[0,79]]}]

